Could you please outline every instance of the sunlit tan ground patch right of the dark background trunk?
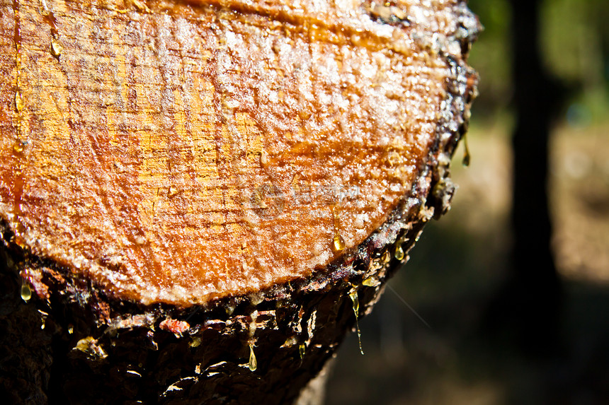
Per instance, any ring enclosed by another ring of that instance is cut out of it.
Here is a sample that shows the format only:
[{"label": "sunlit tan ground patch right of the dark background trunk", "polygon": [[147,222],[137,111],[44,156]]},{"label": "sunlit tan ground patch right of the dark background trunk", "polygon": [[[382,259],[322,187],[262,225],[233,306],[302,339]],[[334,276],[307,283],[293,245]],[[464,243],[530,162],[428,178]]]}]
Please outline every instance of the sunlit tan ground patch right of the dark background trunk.
[{"label": "sunlit tan ground patch right of the dark background trunk", "polygon": [[609,124],[554,134],[554,252],[569,279],[609,283]]}]

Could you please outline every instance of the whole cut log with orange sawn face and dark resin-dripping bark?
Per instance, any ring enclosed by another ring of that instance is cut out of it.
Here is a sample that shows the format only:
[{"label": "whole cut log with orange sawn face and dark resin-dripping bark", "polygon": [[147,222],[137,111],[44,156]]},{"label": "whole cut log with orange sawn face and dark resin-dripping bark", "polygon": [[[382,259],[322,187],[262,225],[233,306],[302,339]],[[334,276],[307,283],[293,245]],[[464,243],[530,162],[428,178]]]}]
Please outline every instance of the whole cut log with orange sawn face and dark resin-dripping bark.
[{"label": "whole cut log with orange sawn face and dark resin-dripping bark", "polygon": [[462,1],[0,0],[0,387],[285,404],[448,210]]}]

